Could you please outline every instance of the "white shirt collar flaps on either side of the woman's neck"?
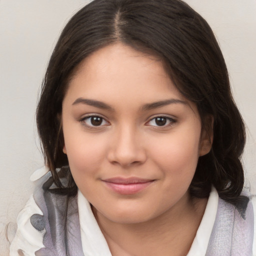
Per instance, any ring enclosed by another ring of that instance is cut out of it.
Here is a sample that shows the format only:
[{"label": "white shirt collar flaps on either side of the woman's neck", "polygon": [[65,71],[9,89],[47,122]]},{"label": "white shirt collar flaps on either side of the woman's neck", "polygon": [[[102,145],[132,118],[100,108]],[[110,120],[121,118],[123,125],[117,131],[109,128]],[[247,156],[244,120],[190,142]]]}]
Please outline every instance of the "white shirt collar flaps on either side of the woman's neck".
[{"label": "white shirt collar flaps on either side of the woman's neck", "polygon": [[[212,187],[201,223],[187,256],[205,255],[217,213],[217,205],[218,194],[216,189]],[[83,254],[86,256],[111,256],[90,204],[80,190],[78,190],[78,211]]]}]

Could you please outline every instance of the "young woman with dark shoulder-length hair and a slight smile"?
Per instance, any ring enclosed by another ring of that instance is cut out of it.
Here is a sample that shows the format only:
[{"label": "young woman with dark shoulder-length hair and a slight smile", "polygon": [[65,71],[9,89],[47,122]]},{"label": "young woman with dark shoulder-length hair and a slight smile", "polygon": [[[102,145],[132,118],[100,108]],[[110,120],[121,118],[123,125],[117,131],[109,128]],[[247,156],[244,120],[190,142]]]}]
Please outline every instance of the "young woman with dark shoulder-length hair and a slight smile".
[{"label": "young woman with dark shoulder-length hair and a slight smile", "polygon": [[10,255],[252,255],[245,133],[206,21],[180,0],[94,0],[37,106],[49,170]]}]

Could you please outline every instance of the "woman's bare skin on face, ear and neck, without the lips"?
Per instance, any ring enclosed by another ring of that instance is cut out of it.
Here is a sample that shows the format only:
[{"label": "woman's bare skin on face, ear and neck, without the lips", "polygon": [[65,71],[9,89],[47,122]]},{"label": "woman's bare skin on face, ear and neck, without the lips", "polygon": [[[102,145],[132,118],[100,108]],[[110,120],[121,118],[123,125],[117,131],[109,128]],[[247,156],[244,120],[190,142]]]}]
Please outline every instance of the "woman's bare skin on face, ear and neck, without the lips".
[{"label": "woman's bare skin on face, ear and neck, without the lips", "polygon": [[[158,101],[165,104],[148,107]],[[70,81],[62,128],[73,178],[112,255],[186,255],[207,202],[192,199],[188,186],[211,144],[195,104],[179,93],[162,62],[121,43],[93,52]],[[104,182],[112,177],[150,182],[121,194]]]}]

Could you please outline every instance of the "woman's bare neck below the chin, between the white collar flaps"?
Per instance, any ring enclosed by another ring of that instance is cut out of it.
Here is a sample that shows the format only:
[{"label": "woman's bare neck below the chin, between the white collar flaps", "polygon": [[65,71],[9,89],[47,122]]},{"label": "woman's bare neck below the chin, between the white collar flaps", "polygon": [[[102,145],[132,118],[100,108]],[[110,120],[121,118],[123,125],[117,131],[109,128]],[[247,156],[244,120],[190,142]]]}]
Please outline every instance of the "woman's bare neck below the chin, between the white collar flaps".
[{"label": "woman's bare neck below the chin, between the white collar flaps", "polygon": [[[207,199],[188,193],[161,215],[139,223],[113,222],[93,208],[113,256],[186,255],[200,224]],[[170,254],[171,253],[171,254]]]}]

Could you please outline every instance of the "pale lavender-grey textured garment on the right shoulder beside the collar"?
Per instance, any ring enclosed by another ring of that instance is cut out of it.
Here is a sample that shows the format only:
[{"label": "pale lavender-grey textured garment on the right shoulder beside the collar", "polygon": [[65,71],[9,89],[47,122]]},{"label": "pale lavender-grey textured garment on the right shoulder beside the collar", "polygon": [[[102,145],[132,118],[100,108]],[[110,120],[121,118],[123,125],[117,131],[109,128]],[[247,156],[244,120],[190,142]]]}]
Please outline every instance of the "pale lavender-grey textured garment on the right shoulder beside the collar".
[{"label": "pale lavender-grey textured garment on the right shoulder beside the collar", "polygon": [[[254,212],[251,200],[243,212],[218,198],[218,206],[206,255],[252,255]],[[216,251],[217,250],[217,251]],[[240,253],[240,254],[239,254]]]}]

